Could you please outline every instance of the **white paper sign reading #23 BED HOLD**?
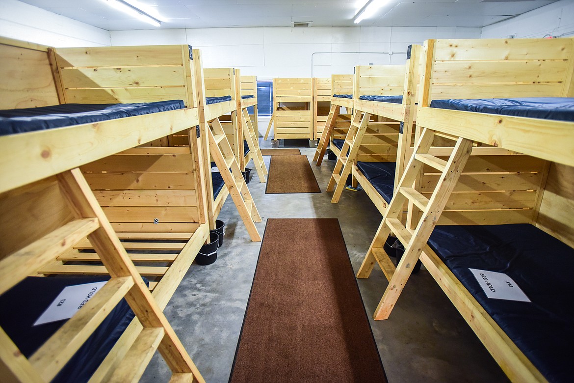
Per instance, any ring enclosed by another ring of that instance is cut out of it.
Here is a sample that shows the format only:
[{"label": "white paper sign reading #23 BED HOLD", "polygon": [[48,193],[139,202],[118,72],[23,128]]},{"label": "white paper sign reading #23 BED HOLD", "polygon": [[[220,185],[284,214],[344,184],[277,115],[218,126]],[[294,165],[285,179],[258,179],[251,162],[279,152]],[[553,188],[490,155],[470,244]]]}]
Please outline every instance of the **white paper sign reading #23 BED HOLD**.
[{"label": "white paper sign reading #23 BED HOLD", "polygon": [[46,308],[46,311],[40,315],[40,318],[36,320],[34,326],[72,318],[105,284],[106,281],[102,281],[65,287]]}]

